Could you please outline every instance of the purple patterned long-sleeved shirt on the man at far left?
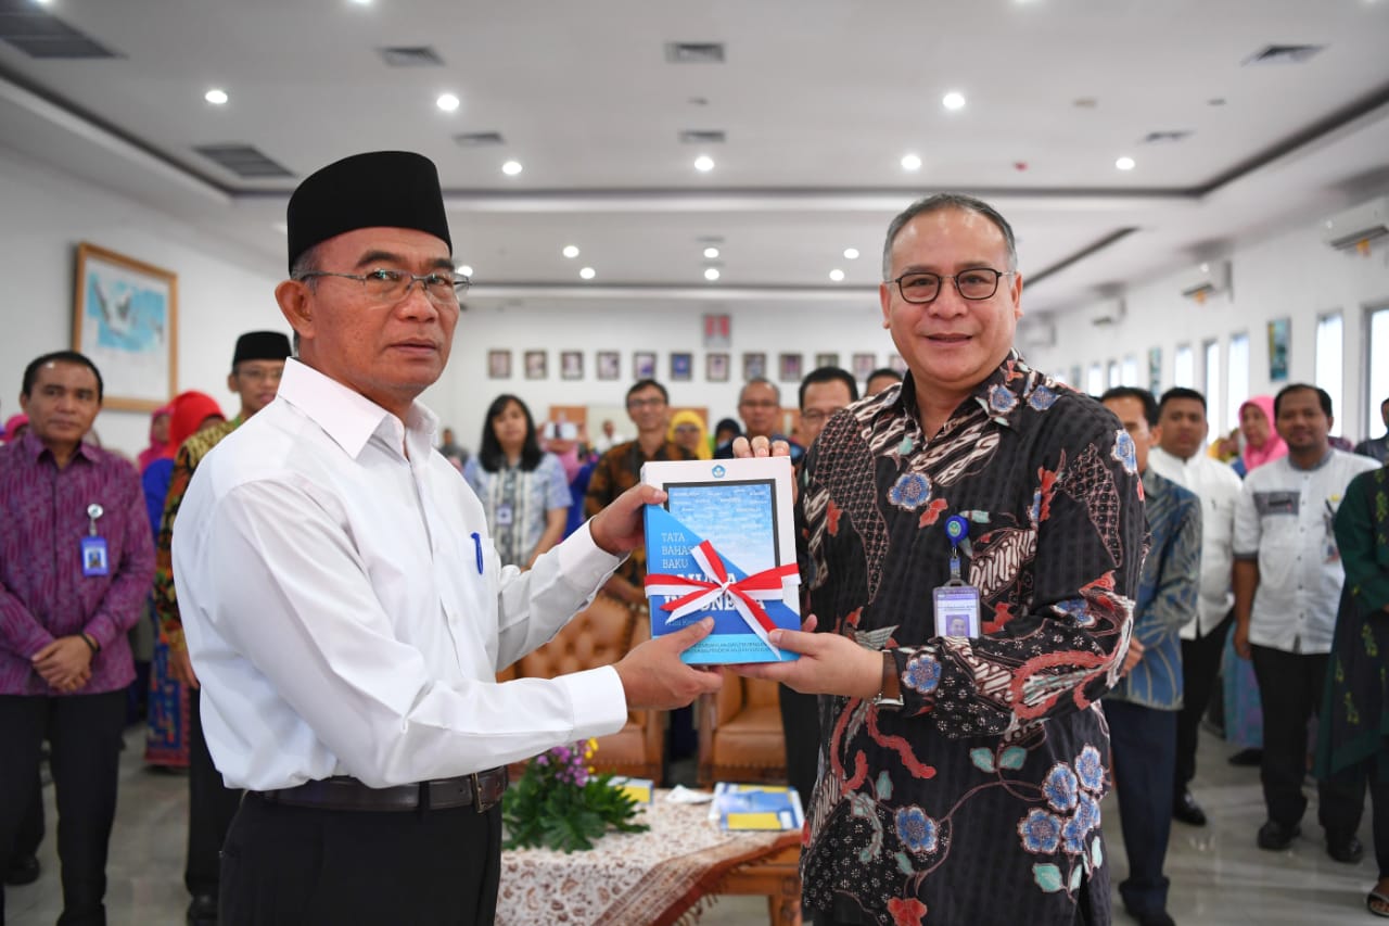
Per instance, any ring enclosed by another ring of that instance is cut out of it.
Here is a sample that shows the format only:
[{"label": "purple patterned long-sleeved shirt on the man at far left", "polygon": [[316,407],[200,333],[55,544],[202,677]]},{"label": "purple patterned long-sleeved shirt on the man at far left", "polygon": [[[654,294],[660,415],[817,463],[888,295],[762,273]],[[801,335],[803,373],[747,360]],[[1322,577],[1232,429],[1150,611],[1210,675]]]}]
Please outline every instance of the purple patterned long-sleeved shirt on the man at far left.
[{"label": "purple patterned long-sleeved shirt on the man at far left", "polygon": [[[107,574],[82,574],[92,521],[106,538]],[[0,448],[0,694],[61,697],[29,659],[58,637],[88,633],[101,651],[92,680],[72,694],[117,691],[135,679],[126,631],[140,619],[154,577],[154,545],[140,477],[88,444],[67,467],[32,431]]]}]

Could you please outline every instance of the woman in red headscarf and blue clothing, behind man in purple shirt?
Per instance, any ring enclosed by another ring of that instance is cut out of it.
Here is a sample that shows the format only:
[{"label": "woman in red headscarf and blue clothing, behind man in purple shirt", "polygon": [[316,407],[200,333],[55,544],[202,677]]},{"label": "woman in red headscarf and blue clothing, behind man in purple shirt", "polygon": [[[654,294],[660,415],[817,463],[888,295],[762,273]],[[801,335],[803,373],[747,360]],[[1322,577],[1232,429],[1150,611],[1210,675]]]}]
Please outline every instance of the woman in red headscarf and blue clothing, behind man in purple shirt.
[{"label": "woman in red headscarf and blue clothing, behind man in purple shirt", "polygon": [[[140,482],[144,487],[144,507],[150,516],[150,531],[160,535],[164,519],[164,498],[174,478],[174,457],[183,441],[210,424],[225,421],[217,399],[206,392],[181,392],[168,405],[168,441],[163,452],[144,467]],[[153,427],[150,428],[153,432]],[[154,641],[150,662],[149,729],[144,736],[144,762],[165,769],[188,767],[188,691],[169,672],[169,644],[164,634]]]}]

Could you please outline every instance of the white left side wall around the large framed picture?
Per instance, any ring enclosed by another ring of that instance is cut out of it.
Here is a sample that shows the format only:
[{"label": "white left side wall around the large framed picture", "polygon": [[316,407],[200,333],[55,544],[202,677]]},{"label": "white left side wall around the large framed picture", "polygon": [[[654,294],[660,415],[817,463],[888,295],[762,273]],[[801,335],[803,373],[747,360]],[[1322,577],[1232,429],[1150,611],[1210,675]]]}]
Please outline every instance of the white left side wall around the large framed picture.
[{"label": "white left side wall around the large framed picture", "polygon": [[[19,410],[24,367],[72,346],[76,246],[90,242],[178,274],[178,388],[201,389],[236,413],[226,391],[236,336],[289,331],[275,306],[271,261],[239,254],[168,216],[0,149],[0,414]],[[128,453],[147,445],[149,416],[104,410],[103,444]]]}]

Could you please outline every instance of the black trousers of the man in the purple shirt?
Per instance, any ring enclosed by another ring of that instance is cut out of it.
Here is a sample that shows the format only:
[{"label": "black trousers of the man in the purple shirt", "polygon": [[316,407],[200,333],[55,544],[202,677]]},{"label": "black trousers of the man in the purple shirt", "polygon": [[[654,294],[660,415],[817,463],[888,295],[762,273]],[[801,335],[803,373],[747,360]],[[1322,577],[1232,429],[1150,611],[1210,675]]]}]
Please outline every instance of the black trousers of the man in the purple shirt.
[{"label": "black trousers of the man in the purple shirt", "polygon": [[10,866],[47,737],[63,868],[60,926],[106,923],[106,854],[124,724],[124,690],[63,698],[0,695],[0,795],[24,795],[0,799],[0,872]]}]

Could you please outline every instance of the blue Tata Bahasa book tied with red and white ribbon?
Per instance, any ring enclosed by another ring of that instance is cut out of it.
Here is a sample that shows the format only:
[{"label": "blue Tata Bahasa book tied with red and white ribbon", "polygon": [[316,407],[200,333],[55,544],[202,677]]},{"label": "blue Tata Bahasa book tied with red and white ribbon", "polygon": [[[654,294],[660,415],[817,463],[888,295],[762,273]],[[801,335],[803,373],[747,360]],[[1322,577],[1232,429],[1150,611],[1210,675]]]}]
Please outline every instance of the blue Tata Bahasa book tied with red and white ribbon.
[{"label": "blue Tata Bahasa book tied with red and white ribbon", "polygon": [[642,481],[668,495],[644,512],[651,635],[710,616],[714,633],[685,662],[797,659],[768,640],[800,630],[790,460],[651,462]]}]

